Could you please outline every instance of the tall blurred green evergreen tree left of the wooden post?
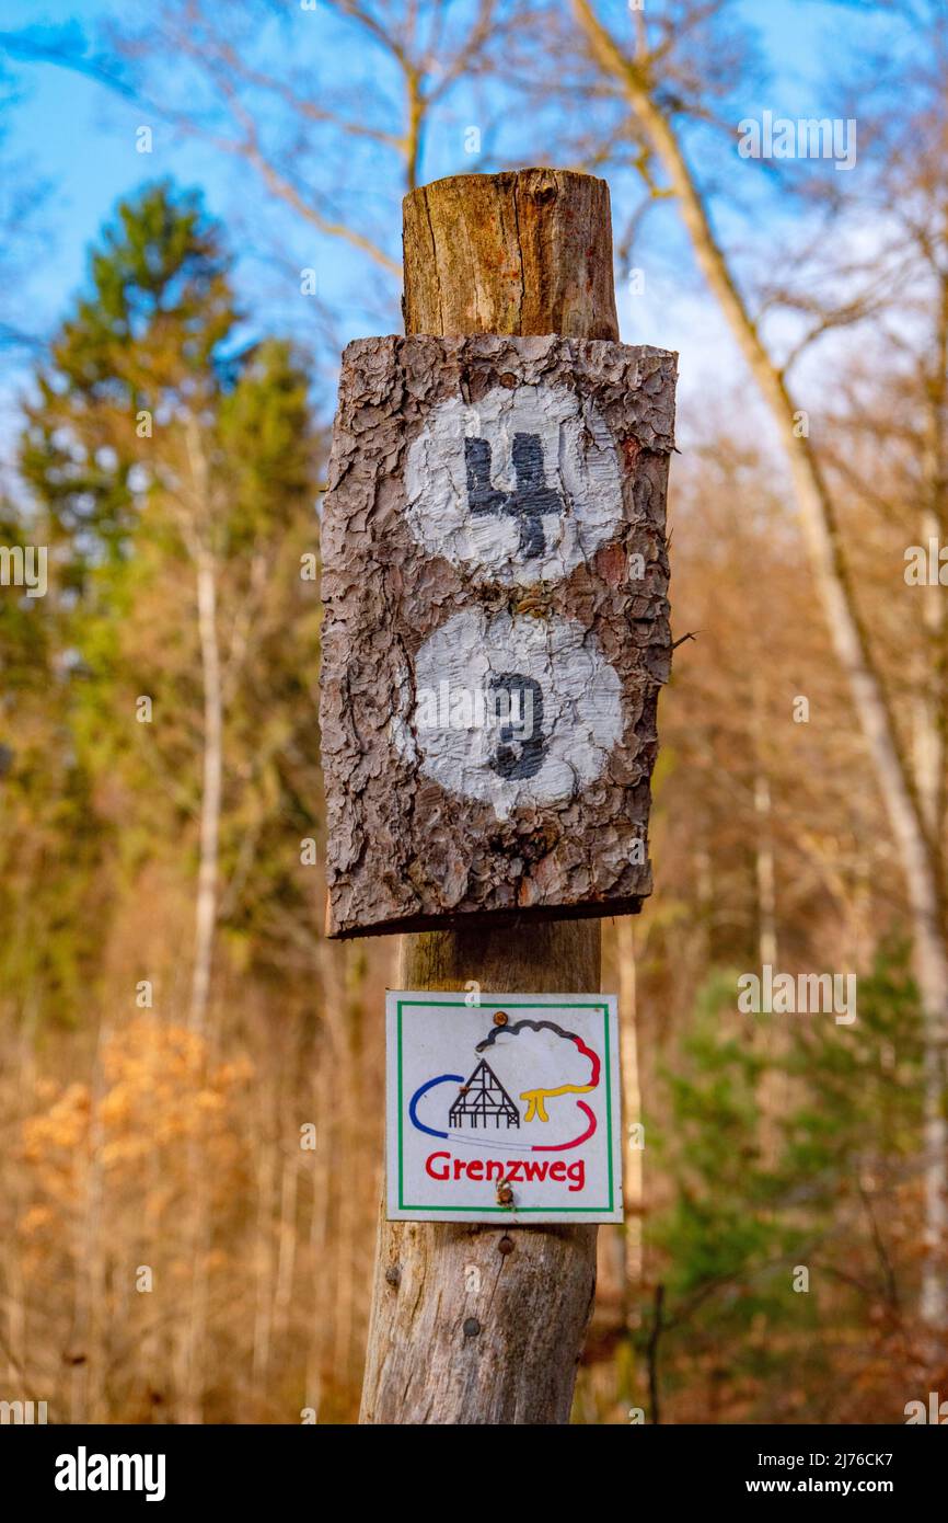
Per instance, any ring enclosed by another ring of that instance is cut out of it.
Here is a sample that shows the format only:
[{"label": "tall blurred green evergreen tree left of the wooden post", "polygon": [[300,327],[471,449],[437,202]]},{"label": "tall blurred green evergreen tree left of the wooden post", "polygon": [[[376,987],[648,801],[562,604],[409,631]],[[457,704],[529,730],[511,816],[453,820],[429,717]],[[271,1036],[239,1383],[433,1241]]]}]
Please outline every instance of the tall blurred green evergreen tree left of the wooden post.
[{"label": "tall blurred green evergreen tree left of the wooden post", "polygon": [[47,524],[65,751],[96,780],[96,894],[116,906],[157,868],[178,883],[195,941],[169,938],[170,978],[199,1028],[222,920],[245,966],[269,900],[307,903],[306,373],[288,343],[240,344],[221,228],[163,183],[119,207],[35,390],[21,471]]}]

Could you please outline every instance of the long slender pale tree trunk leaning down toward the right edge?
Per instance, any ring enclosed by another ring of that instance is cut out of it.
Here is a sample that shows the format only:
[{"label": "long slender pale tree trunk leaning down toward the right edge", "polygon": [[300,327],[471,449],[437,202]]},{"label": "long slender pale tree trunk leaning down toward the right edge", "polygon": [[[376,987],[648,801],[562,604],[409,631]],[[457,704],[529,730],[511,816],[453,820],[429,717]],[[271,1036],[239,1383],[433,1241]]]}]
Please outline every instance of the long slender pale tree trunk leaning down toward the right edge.
[{"label": "long slender pale tree trunk leaning down toward the right edge", "polygon": [[925,825],[905,757],[843,556],[835,506],[817,454],[799,428],[799,410],[768,353],[718,244],[701,192],[676,129],[659,105],[647,64],[627,56],[590,0],[574,14],[598,64],[618,81],[668,177],[697,263],[724,314],[778,426],[787,452],[813,577],[837,658],[852,694],[866,748],[899,848],[915,941],[915,973],[925,1020],[925,1246],[921,1313],[931,1328],[948,1325],[943,1253],[948,1238],[948,1119],[943,1115],[948,1034],[948,946],[940,896],[940,844]]}]

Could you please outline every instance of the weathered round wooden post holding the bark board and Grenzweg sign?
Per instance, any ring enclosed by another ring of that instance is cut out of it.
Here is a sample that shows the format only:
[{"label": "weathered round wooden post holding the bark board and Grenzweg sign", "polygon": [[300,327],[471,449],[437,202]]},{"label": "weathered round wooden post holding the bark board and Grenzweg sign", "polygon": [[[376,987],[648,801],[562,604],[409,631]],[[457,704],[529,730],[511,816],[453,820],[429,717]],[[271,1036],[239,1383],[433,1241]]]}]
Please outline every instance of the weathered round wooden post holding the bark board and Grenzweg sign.
[{"label": "weathered round wooden post holding the bark board and Grenzweg sign", "polygon": [[[405,332],[618,338],[609,189],[554,169],[405,198]],[[595,991],[598,921],[402,938],[400,987]],[[379,1226],[362,1422],[568,1422],[595,1226]]]}]

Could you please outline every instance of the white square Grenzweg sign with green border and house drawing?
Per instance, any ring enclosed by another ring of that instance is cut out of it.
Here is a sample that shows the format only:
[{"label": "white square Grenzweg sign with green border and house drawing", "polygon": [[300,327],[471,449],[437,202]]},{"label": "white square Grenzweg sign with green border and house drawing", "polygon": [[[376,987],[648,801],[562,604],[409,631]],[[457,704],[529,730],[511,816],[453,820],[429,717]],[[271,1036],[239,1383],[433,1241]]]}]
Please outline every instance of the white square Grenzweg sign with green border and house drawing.
[{"label": "white square Grenzweg sign with green border and house drawing", "polygon": [[621,1221],[613,995],[387,996],[388,1218]]}]

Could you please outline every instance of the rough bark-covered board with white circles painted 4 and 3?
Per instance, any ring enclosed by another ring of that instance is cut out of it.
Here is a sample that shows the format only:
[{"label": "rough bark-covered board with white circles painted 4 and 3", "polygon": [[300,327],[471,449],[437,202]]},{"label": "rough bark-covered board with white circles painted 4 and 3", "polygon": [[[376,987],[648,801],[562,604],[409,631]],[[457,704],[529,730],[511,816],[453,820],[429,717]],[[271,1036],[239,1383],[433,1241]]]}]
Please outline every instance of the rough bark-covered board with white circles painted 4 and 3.
[{"label": "rough bark-covered board with white circles painted 4 and 3", "polygon": [[364,338],[323,516],[329,934],[651,889],[676,356]]}]

